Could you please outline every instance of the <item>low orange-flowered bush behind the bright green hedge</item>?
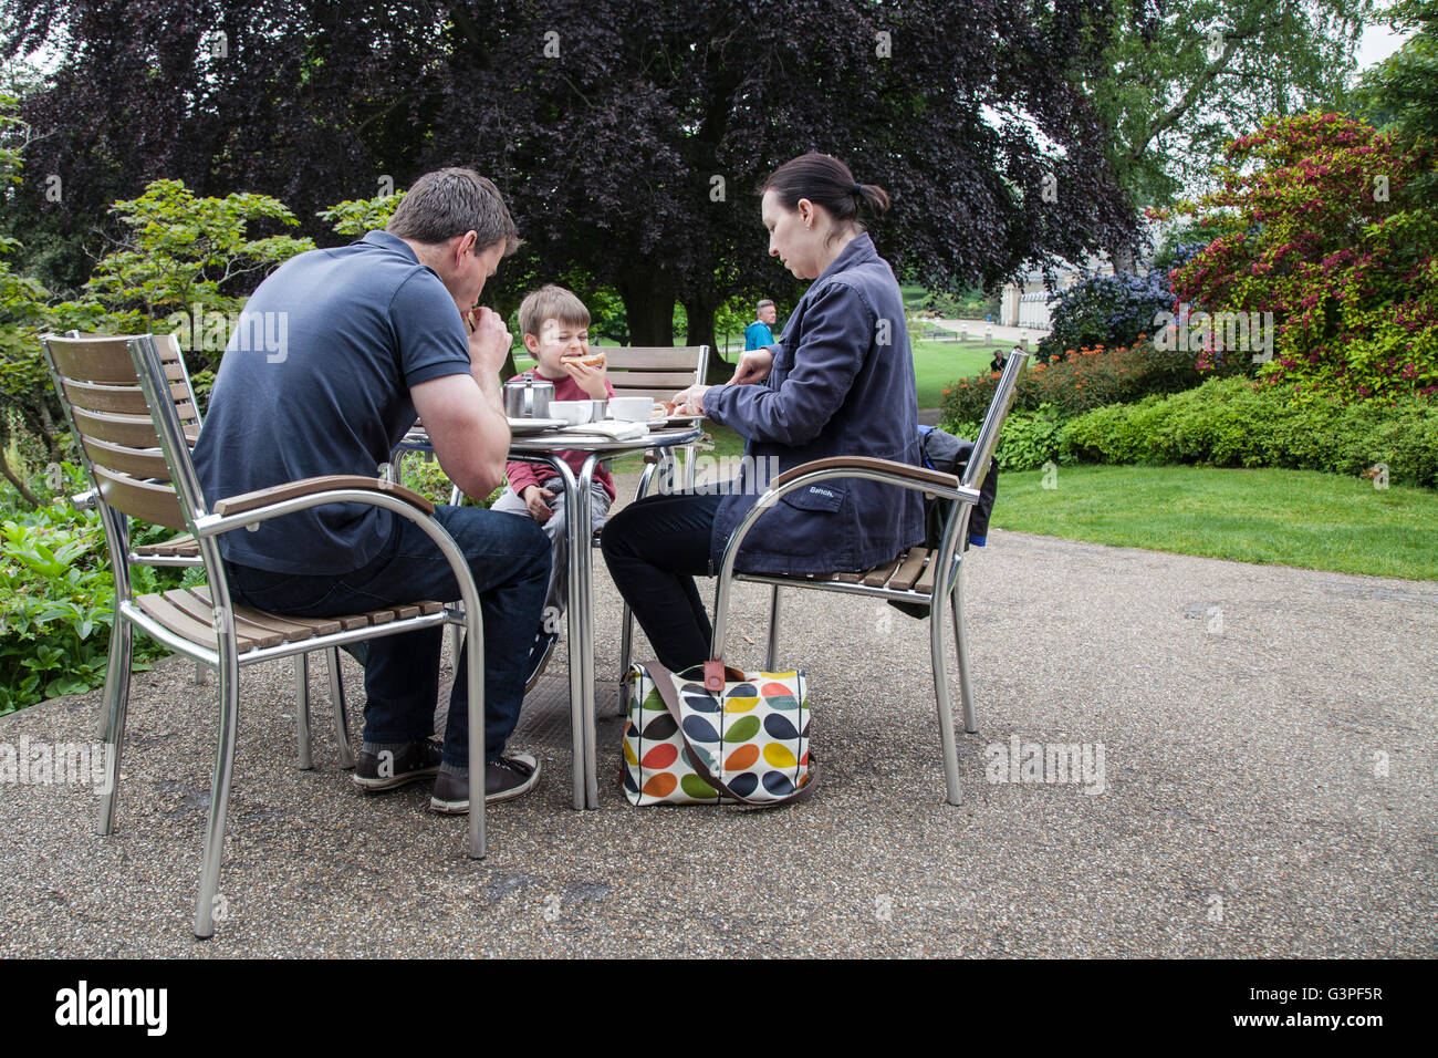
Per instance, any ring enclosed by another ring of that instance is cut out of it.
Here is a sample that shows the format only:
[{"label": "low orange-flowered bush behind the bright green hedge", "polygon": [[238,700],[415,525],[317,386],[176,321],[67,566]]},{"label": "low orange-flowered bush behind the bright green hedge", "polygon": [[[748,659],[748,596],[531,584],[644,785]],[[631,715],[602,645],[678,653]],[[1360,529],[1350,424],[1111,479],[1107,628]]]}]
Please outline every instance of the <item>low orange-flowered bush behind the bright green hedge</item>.
[{"label": "low orange-flowered bush behind the bright green hedge", "polygon": [[[1146,335],[1139,335],[1146,337]],[[1227,371],[1242,370],[1232,364]],[[1139,343],[1104,350],[1080,347],[1061,363],[1032,364],[1018,380],[1014,412],[1051,404],[1060,420],[1094,407],[1137,400],[1149,393],[1179,393],[1204,380],[1196,354]],[[998,374],[961,379],[943,392],[940,422],[982,422],[998,387]],[[1005,425],[1005,432],[1008,426]]]}]

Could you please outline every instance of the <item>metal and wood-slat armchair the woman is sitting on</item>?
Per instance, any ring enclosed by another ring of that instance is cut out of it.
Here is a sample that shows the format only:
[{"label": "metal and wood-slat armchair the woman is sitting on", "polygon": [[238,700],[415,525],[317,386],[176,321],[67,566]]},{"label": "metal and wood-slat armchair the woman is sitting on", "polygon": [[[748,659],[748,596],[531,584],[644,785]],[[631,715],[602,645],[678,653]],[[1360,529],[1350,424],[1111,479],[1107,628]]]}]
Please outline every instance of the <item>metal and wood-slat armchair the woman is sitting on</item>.
[{"label": "metal and wood-slat armchair the woman is sitting on", "polygon": [[[719,584],[715,599],[715,622],[710,656],[723,658],[725,630],[728,628],[729,597],[735,582],[771,586],[769,639],[765,665],[774,669],[779,648],[779,590],[785,587],[818,592],[841,592],[844,594],[867,596],[913,603],[929,610],[929,659],[933,668],[933,692],[939,707],[939,743],[943,750],[943,779],[948,802],[958,805],[959,761],[953,738],[953,711],[949,701],[949,677],[943,649],[943,612],[953,616],[953,642],[959,661],[959,694],[963,708],[963,730],[978,731],[974,708],[972,662],[969,659],[968,632],[963,619],[963,546],[968,540],[969,515],[979,501],[979,489],[989,469],[994,449],[998,446],[1004,419],[1014,404],[1014,390],[1018,377],[1028,361],[1028,353],[1014,350],[1004,366],[998,389],[989,402],[974,452],[962,476],[909,466],[889,459],[864,456],[834,456],[815,459],[794,466],[774,479],[771,488],[755,502],[754,508],[739,521],[725,547],[719,570]],[[765,511],[795,489],[808,488],[830,478],[863,478],[899,488],[913,489],[926,495],[952,501],[943,524],[943,535],[938,550],[912,547],[890,561],[858,573],[825,573],[812,576],[782,576],[769,573],[738,573],[735,559],[743,538]],[[948,607],[945,607],[948,602]]]}]

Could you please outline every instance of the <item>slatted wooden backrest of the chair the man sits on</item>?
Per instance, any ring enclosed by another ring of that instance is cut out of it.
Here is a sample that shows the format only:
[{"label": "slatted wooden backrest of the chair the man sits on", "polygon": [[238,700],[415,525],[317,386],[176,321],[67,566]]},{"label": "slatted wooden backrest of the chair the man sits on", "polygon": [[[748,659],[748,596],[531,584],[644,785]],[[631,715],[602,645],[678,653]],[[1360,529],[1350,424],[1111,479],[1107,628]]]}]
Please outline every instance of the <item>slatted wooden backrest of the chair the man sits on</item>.
[{"label": "slatted wooden backrest of the chair the man sits on", "polygon": [[[160,347],[171,341],[151,334],[40,338],[101,501],[131,518],[186,530],[203,501],[181,415],[197,423],[198,409],[183,361],[162,363]],[[183,478],[178,488],[167,456]]]}]

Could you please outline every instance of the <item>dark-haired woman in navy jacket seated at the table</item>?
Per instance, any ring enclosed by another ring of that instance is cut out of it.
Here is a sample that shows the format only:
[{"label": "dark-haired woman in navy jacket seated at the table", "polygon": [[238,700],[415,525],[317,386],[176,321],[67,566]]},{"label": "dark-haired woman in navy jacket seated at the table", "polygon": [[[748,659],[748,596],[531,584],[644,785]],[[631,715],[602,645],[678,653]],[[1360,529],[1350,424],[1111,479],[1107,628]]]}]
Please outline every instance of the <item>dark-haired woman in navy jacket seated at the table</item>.
[{"label": "dark-haired woman in navy jacket seated at the table", "polygon": [[[835,455],[919,465],[903,298],[858,220],[861,207],[883,216],[889,196],[856,183],[825,154],[794,158],[765,181],[769,255],[814,284],[779,340],[745,353],[728,384],[692,386],[676,397],[748,439],[739,479],[728,495],[646,497],[604,530],[614,583],[670,671],[709,658],[709,616],[695,576],[718,573],[729,535],[764,492],[768,482],[755,481],[755,466],[777,465],[777,475]],[[789,492],[761,515],[736,567],[861,570],[920,540],[919,494],[838,478]]]}]

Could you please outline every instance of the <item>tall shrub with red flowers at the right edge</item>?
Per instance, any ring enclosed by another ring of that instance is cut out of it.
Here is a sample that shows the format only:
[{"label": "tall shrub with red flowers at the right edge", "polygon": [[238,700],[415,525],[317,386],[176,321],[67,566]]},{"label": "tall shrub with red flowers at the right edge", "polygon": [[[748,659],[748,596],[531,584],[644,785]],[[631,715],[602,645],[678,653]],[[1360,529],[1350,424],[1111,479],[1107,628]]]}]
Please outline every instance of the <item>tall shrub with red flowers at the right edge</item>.
[{"label": "tall shrub with red flowers at the right edge", "polygon": [[1270,119],[1228,157],[1222,187],[1178,207],[1221,235],[1172,273],[1175,312],[1273,312],[1260,377],[1296,394],[1438,392],[1438,216],[1406,194],[1432,155],[1306,114]]}]

